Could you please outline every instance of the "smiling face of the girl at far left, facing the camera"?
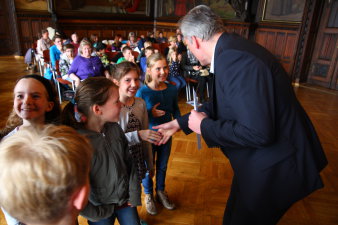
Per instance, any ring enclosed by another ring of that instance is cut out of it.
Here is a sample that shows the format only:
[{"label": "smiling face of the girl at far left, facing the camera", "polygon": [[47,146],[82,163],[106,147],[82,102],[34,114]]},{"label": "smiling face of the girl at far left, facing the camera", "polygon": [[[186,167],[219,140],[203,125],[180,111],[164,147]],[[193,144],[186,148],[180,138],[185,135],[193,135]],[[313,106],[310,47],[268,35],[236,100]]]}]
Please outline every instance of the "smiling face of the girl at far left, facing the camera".
[{"label": "smiling face of the girl at far left, facing the camera", "polygon": [[47,90],[34,78],[21,79],[14,88],[14,110],[25,122],[45,122],[45,113],[53,109]]}]

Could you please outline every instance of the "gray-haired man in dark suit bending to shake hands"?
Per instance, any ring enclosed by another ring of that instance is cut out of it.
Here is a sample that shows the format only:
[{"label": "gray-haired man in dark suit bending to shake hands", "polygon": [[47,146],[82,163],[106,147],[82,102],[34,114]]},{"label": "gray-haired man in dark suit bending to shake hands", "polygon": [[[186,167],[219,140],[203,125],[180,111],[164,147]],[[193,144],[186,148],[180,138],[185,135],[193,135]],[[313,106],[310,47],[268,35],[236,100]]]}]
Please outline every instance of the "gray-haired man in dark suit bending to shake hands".
[{"label": "gray-haired man in dark suit bending to shake hands", "polygon": [[223,224],[272,225],[296,201],[322,188],[327,160],[316,132],[272,54],[223,32],[222,20],[197,6],[180,21],[186,43],[214,73],[211,99],[154,127],[168,136],[179,129],[219,146],[234,170]]}]

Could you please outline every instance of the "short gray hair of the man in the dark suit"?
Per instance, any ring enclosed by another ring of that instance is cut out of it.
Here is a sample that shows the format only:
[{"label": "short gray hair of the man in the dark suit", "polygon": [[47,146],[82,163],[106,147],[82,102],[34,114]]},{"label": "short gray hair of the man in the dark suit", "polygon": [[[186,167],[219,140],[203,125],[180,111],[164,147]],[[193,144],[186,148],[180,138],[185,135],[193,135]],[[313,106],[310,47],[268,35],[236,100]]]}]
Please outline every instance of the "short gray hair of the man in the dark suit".
[{"label": "short gray hair of the man in the dark suit", "polygon": [[193,8],[179,21],[179,27],[184,38],[192,36],[208,41],[215,34],[224,31],[222,19],[208,6],[199,5]]}]

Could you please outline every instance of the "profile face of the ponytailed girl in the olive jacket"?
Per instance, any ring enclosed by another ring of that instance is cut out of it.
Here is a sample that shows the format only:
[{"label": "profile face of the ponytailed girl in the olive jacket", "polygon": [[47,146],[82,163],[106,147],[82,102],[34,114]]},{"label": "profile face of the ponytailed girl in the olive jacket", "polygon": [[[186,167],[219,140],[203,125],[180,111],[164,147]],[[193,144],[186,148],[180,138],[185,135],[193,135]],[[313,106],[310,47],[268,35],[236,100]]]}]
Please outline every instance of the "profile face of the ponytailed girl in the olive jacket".
[{"label": "profile face of the ponytailed girl in the olive jacket", "polygon": [[119,91],[116,87],[111,87],[110,96],[107,102],[100,106],[102,114],[101,118],[104,122],[118,122],[120,111],[121,111],[121,102]]}]

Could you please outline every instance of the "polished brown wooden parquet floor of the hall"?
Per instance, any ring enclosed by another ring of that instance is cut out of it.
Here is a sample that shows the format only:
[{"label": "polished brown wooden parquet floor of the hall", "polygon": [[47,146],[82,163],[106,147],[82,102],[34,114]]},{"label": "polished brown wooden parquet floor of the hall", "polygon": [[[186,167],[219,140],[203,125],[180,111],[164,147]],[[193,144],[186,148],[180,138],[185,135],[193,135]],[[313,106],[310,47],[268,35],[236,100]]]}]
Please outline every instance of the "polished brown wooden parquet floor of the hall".
[{"label": "polished brown wooden parquet floor of the hall", "polygon": [[[12,108],[15,80],[25,71],[23,58],[0,57],[0,126]],[[329,159],[323,171],[325,188],[297,202],[281,219],[279,225],[338,224],[338,93],[327,89],[301,86],[297,96],[312,119]],[[180,99],[182,113],[190,111]],[[203,143],[197,150],[195,135],[174,136],[167,173],[167,191],[177,209],[168,211],[158,205],[159,214],[148,215],[144,207],[139,213],[149,225],[219,225],[229,195],[232,170],[218,149],[208,149]],[[1,189],[0,189],[1,191]],[[143,198],[143,196],[142,196]],[[87,224],[80,218],[80,224]],[[0,225],[5,220],[0,215]]]}]

